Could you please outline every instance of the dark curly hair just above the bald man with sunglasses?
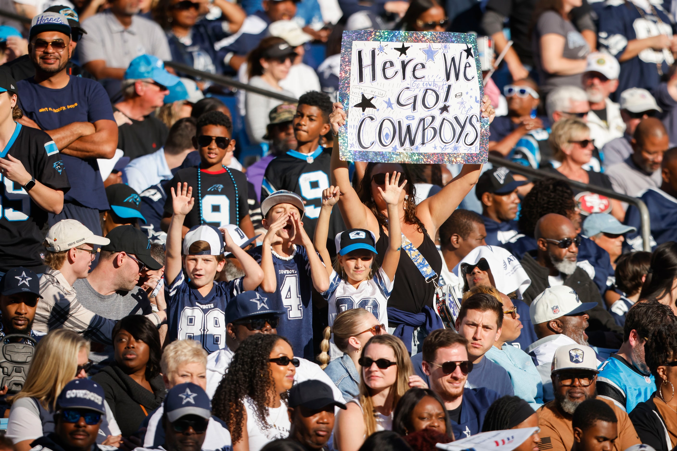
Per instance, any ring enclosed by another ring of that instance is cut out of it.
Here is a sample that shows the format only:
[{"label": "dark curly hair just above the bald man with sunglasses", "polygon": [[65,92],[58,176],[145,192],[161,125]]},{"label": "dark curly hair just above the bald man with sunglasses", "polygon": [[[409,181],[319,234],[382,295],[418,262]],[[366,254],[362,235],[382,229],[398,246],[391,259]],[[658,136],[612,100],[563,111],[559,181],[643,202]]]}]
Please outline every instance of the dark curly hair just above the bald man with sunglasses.
[{"label": "dark curly hair just above the bald man with sunglasses", "polygon": [[519,211],[519,230],[533,238],[536,222],[548,213],[569,218],[576,209],[573,191],[565,182],[557,179],[542,179],[533,183],[533,188],[522,201]]}]

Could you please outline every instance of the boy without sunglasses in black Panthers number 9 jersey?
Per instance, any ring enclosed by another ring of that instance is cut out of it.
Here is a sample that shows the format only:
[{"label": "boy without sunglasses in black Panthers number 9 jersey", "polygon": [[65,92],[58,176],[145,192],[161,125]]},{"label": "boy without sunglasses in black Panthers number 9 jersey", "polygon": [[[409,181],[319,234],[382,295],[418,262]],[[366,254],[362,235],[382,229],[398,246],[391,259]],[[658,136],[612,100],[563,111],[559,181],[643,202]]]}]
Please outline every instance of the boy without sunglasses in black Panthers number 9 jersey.
[{"label": "boy without sunglasses in black Panthers number 9 jersey", "polygon": [[[261,203],[266,197],[284,189],[297,193],[305,200],[305,231],[315,234],[315,224],[322,208],[322,191],[330,185],[329,164],[332,149],[320,147],[320,138],[330,132],[329,115],[332,101],[326,94],[311,91],[299,99],[294,115],[294,137],[299,143],[296,150],[290,149],[268,164],[261,184]],[[345,230],[340,214],[332,214],[329,236]]]}]

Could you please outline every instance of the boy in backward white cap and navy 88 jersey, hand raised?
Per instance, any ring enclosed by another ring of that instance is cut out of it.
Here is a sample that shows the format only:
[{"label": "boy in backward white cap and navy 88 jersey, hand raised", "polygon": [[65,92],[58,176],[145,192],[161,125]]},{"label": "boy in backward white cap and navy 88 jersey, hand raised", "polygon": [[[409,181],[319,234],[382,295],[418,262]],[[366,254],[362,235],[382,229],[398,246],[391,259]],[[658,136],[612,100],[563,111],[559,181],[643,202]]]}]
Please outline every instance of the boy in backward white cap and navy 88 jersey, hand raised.
[{"label": "boy in backward white cap and navy 88 jersey, hand raised", "polygon": [[[167,299],[167,337],[194,339],[207,352],[225,347],[225,306],[241,293],[256,289],[263,281],[263,270],[223,229],[211,225],[195,226],[185,234],[181,257],[183,220],[195,203],[188,183],[171,188],[174,214],[167,231],[165,258],[165,298]],[[230,282],[215,282],[223,269],[223,252],[232,252],[240,260],[244,277]],[[184,273],[185,271],[185,273]]]}]

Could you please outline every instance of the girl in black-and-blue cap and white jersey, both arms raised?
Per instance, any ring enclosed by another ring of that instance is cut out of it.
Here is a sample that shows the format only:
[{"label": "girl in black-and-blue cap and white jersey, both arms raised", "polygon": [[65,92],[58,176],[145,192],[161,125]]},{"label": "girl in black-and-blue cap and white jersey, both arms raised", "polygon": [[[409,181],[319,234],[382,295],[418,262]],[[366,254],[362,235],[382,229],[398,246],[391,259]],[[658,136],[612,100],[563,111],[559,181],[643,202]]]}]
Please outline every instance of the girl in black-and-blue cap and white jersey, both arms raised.
[{"label": "girl in black-and-blue cap and white jersey, both arms raised", "polygon": [[[401,173],[386,174],[383,189],[378,187],[380,194],[386,201],[391,215],[397,215],[397,201],[401,191],[406,186],[404,181],[401,186],[399,179]],[[315,226],[315,249],[318,250],[322,260],[330,262],[331,257],[327,250],[327,233],[329,231],[329,217],[332,208],[341,196],[339,187],[329,187],[322,193],[322,208],[318,223]],[[390,235],[397,236],[400,232],[399,222],[388,223]],[[329,304],[329,326],[334,324],[334,318],[338,312],[351,308],[366,308],[378,318],[382,325],[388,324],[386,312],[388,298],[393,289],[393,280],[399,264],[399,243],[392,241],[383,256],[383,264],[376,268],[374,261],[378,252],[374,248],[376,239],[371,231],[365,229],[349,229],[336,235],[336,262],[335,268],[326,266],[329,274],[329,289],[322,293],[322,297]],[[333,343],[332,343],[333,345]],[[331,356],[341,356],[336,346],[332,346]]]}]

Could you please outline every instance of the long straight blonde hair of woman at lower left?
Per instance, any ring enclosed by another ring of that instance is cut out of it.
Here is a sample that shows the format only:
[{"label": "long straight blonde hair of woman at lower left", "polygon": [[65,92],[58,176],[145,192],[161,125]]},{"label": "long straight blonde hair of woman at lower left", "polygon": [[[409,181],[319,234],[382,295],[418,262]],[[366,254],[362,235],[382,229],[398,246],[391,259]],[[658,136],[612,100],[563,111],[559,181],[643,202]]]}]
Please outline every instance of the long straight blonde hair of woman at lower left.
[{"label": "long straight blonde hair of woman at lower left", "polygon": [[48,333],[35,348],[24,388],[9,401],[36,398],[45,409],[56,410],[56,398],[74,379],[78,354],[83,349],[89,354],[89,341],[74,331],[58,329]]}]

